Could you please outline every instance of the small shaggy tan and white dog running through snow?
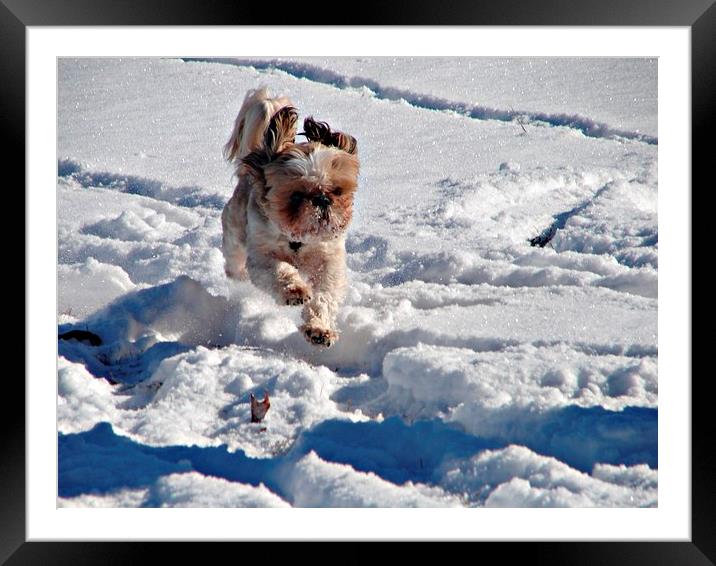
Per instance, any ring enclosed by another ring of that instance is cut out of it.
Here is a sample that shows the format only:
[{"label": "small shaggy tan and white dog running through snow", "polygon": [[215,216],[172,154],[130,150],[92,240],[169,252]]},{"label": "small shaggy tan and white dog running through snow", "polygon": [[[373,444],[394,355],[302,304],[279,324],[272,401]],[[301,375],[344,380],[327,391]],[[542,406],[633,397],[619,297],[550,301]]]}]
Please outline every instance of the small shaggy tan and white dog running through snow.
[{"label": "small shaggy tan and white dog running through snow", "polygon": [[281,305],[303,305],[299,330],[330,347],[346,292],[357,143],[310,116],[297,134],[297,121],[287,97],[247,92],[224,147],[238,181],[221,215],[222,251],[229,278],[250,279]]}]

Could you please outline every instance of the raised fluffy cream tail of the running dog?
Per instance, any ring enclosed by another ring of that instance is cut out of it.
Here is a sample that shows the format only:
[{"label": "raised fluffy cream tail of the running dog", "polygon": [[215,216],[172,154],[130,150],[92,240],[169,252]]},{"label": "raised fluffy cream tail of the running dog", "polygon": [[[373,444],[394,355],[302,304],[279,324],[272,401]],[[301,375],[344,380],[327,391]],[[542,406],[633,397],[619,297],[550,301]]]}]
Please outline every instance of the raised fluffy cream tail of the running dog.
[{"label": "raised fluffy cream tail of the running dog", "polygon": [[224,158],[239,167],[245,156],[263,146],[271,117],[281,108],[292,105],[286,96],[271,98],[266,87],[248,91],[231,137],[224,146]]}]

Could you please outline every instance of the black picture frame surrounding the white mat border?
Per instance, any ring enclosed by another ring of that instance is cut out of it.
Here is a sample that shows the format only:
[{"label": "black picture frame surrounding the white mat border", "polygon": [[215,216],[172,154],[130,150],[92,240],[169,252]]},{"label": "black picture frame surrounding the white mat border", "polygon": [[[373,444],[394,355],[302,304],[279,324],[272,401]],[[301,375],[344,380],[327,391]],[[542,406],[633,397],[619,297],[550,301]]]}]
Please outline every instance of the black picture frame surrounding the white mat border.
[{"label": "black picture frame surrounding the white mat border", "polygon": [[[0,76],[5,80],[0,89],[6,163],[24,163],[25,157],[25,32],[28,26],[69,25],[568,25],[568,26],[686,26],[691,28],[692,77],[692,187],[701,192],[712,190],[709,175],[710,139],[714,126],[716,98],[716,6],[714,0],[507,0],[500,2],[412,2],[363,1],[360,10],[340,10],[320,3],[311,3],[304,20],[301,10],[289,3],[272,3],[267,10],[263,3],[228,2],[222,0],[192,2],[190,0],[122,1],[122,0],[0,0]],[[308,20],[310,18],[310,20]],[[19,186],[25,186],[23,167],[7,168],[9,175],[4,198],[18,199],[25,210]],[[707,177],[707,175],[709,175]],[[15,194],[12,195],[11,189]],[[684,187],[689,191],[689,187]],[[685,194],[687,194],[685,192]],[[9,201],[5,201],[7,203]],[[16,209],[15,209],[16,210]],[[693,210],[693,207],[692,207]],[[24,218],[24,215],[23,215]],[[706,224],[708,225],[708,223]],[[692,221],[692,242],[709,241],[698,237]],[[702,225],[703,226],[703,225]],[[19,247],[18,247],[19,248]],[[17,255],[20,255],[18,250]],[[689,250],[692,259],[692,250]],[[698,257],[698,256],[697,256]],[[14,258],[13,258],[14,259]],[[25,257],[16,265],[24,265]],[[693,262],[692,262],[693,265]],[[693,270],[692,270],[693,281]],[[27,295],[23,276],[25,305]],[[693,283],[692,283],[693,289]],[[692,290],[693,295],[693,290]],[[693,301],[693,296],[692,296]],[[23,325],[23,327],[25,327]],[[15,332],[13,332],[15,333]],[[710,333],[692,333],[691,351],[709,339]],[[31,340],[27,337],[26,340]],[[25,343],[27,347],[27,342]],[[693,363],[693,357],[690,360]],[[173,555],[183,560],[206,561],[214,553],[214,545],[168,545],[166,543],[89,543],[89,542],[26,542],[25,541],[25,411],[19,399],[25,395],[22,381],[16,375],[5,376],[6,405],[19,409],[2,411],[2,452],[0,453],[0,562],[26,564],[129,564],[154,561],[154,552],[170,561]],[[534,543],[472,543],[480,544],[474,559],[484,552],[499,555],[503,563],[529,560],[531,563],[560,564],[679,564],[706,565],[716,561],[716,456],[711,430],[711,405],[708,373],[692,371],[683,379],[692,385],[692,500],[690,542],[534,542]],[[10,403],[7,399],[16,399]],[[668,426],[668,423],[660,423]],[[555,533],[559,536],[559,533]],[[379,558],[384,549],[376,543],[349,542],[332,548],[310,549],[313,560],[365,563]],[[467,543],[466,543],[467,544]],[[265,545],[268,545],[265,546]],[[223,546],[223,545],[222,545]],[[285,544],[243,543],[239,550],[231,547],[232,560],[253,560],[254,553],[269,553],[267,560],[276,564],[296,560],[296,549]],[[291,545],[293,546],[293,545]],[[411,550],[427,556],[422,545]],[[432,550],[432,549],[431,549]],[[446,550],[435,548],[438,552]],[[450,549],[455,552],[461,549]],[[404,550],[400,550],[404,553]],[[451,552],[451,553],[452,553]],[[417,554],[417,553],[416,553]],[[300,555],[300,550],[299,550]],[[406,559],[403,556],[400,561]],[[451,560],[442,555],[441,560]]]}]

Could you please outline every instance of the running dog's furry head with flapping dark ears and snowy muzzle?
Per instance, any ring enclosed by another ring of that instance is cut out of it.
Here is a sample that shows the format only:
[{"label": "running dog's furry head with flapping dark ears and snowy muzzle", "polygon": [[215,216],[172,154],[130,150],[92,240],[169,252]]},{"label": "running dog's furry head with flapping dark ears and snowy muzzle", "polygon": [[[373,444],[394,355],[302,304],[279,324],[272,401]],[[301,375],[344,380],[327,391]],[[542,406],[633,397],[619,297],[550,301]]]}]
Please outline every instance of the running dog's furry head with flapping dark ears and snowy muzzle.
[{"label": "running dog's furry head with flapping dark ears and snowy muzzle", "polygon": [[259,191],[257,202],[282,234],[304,243],[330,240],[345,231],[353,214],[359,168],[355,140],[320,123],[327,135],[315,135],[317,123],[307,119],[306,135],[321,141],[297,144],[296,119],[291,107],[277,112],[264,148],[243,162]]}]

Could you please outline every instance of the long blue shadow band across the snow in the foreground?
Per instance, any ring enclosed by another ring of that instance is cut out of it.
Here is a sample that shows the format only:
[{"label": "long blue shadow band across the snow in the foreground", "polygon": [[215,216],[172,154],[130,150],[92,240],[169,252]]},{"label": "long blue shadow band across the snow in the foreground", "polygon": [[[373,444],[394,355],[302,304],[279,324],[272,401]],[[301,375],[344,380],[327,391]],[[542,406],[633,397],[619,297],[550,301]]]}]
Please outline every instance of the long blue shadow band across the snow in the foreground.
[{"label": "long blue shadow band across the snow in the foreground", "polygon": [[[658,465],[656,409],[566,407],[513,429],[509,438],[481,438],[440,420],[406,424],[398,417],[382,422],[324,421],[304,431],[291,448],[274,458],[249,458],[226,446],[147,446],[114,433],[108,423],[77,434],[60,434],[59,495],[109,493],[149,487],[161,476],[197,471],[207,476],[258,486],[291,501],[293,465],[313,451],[328,462],[403,484],[435,483],[451,461],[486,449],[521,444],[590,473],[597,462]],[[148,503],[149,504],[149,503]]]}]

